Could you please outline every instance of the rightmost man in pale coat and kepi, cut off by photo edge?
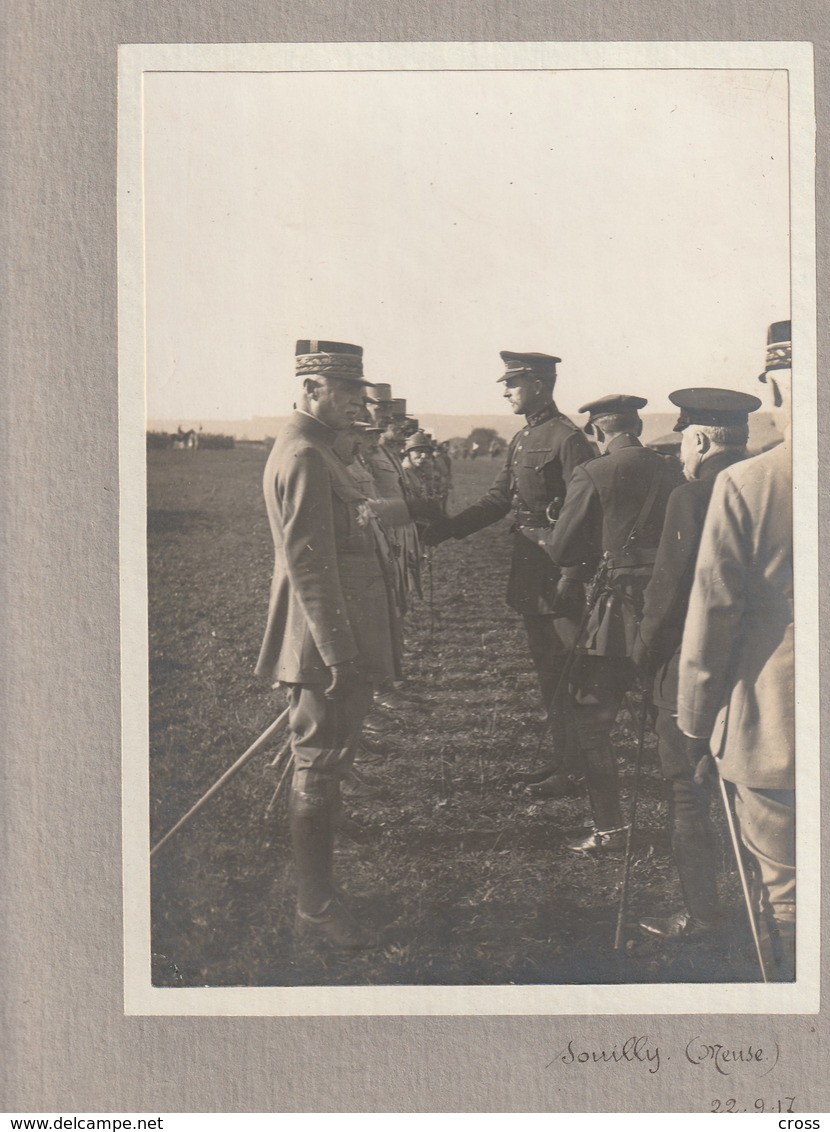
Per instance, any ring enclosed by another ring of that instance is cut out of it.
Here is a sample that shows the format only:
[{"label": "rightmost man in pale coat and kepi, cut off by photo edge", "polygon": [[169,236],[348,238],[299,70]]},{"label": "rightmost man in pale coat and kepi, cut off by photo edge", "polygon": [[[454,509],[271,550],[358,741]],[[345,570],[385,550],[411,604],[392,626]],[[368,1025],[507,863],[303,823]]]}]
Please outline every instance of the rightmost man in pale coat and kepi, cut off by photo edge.
[{"label": "rightmost man in pale coat and kepi, cut off by photo edge", "polygon": [[681,650],[677,726],[735,784],[755,858],[764,944],[795,977],[795,654],[790,324],[773,323],[767,368],[784,444],[727,469],[712,491]]}]

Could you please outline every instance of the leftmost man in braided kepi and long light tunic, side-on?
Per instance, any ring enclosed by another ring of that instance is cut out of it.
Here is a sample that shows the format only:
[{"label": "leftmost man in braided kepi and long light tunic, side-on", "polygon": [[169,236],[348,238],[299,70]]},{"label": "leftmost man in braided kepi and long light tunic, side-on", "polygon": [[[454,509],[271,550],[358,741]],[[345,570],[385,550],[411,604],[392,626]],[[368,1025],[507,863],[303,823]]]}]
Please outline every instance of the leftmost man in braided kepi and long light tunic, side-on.
[{"label": "leftmost man in braided kepi and long light tunic, side-on", "polygon": [[289,821],[297,931],[335,946],[369,940],[333,880],[340,784],[373,683],[394,675],[387,589],[365,499],[334,445],[363,405],[362,350],[297,343],[298,409],[265,468],[274,577],[257,672],[289,688],[293,749]]}]

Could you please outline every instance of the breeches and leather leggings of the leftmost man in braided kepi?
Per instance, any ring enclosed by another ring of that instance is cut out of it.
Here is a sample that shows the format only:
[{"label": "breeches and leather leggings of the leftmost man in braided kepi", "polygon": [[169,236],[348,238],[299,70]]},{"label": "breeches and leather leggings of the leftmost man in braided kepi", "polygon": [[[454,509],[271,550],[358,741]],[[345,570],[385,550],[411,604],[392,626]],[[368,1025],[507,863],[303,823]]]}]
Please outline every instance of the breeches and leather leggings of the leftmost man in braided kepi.
[{"label": "breeches and leather leggings of the leftmost man in braided kepi", "polygon": [[326,700],[322,686],[291,689],[290,727],[294,755],[289,824],[297,868],[298,904],[319,912],[334,895],[334,827],[340,782],[354,757],[371,687]]}]

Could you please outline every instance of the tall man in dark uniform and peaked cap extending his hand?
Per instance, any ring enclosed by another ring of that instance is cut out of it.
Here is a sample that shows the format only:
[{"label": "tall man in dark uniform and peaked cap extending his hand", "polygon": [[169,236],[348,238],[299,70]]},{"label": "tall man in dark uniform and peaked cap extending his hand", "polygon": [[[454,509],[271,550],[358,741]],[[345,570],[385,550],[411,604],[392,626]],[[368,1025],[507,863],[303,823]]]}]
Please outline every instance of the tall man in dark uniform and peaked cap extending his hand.
[{"label": "tall man in dark uniform and peaked cap extending his hand", "polygon": [[[513,412],[525,418],[511,440],[500,472],[478,503],[427,529],[425,541],[463,539],[505,515],[513,516],[513,558],[507,604],[522,615],[542,702],[553,712],[551,735],[557,754],[536,774],[524,777],[539,797],[558,797],[568,789],[571,761],[576,756],[567,689],[559,693],[565,657],[576,632],[584,590],[563,578],[563,572],[539,546],[556,522],[574,469],[593,453],[584,434],[554,402],[556,367],[562,359],[546,353],[502,351],[505,365],[498,381]],[[567,572],[566,572],[567,573]],[[576,603],[574,604],[574,588]]]}]

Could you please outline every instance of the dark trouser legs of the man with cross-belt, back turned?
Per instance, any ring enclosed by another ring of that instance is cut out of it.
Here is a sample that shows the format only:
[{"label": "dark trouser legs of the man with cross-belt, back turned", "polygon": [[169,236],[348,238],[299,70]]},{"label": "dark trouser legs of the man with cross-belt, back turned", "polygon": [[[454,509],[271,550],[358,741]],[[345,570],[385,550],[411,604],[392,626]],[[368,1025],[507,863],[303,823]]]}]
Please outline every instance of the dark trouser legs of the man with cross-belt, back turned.
[{"label": "dark trouser legs of the man with cross-belt, back turned", "polygon": [[581,657],[574,666],[574,718],[593,822],[598,830],[623,825],[617,762],[610,730],[633,680],[625,658]]}]

